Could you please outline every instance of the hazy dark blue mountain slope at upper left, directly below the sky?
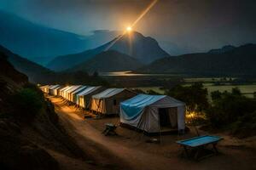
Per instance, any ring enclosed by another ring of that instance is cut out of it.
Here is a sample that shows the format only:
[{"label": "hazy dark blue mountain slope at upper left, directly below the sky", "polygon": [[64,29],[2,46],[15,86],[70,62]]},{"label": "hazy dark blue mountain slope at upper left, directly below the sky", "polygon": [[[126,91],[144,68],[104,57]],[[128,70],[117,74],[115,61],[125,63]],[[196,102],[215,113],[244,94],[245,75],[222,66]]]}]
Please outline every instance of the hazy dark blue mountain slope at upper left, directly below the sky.
[{"label": "hazy dark blue mountain slope at upper left, directly below the sky", "polygon": [[96,30],[88,36],[60,31],[0,11],[0,44],[40,65],[55,56],[96,48],[119,35],[119,31]]}]

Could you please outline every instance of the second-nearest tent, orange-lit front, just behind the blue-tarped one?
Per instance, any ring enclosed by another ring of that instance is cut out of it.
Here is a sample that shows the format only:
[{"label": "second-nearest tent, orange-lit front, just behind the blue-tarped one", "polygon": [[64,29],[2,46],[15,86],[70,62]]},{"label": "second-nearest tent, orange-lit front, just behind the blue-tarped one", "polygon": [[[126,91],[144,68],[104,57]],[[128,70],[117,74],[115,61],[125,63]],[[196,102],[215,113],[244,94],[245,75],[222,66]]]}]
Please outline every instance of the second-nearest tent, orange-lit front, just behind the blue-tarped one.
[{"label": "second-nearest tent, orange-lit front, just behind the blue-tarped one", "polygon": [[119,103],[136,94],[125,88],[108,88],[91,97],[90,110],[102,114],[119,114]]}]

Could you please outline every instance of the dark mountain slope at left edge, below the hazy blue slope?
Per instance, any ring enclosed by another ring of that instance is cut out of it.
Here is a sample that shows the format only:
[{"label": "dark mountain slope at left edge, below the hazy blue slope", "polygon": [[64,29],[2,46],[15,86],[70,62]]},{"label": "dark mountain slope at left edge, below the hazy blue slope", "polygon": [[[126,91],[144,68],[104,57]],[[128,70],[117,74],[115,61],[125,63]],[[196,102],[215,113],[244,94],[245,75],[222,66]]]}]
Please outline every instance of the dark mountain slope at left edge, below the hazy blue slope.
[{"label": "dark mountain slope at left edge, below the hazy blue slope", "polygon": [[13,54],[9,49],[0,46],[0,53],[8,57],[9,62],[15,66],[15,69],[26,74],[30,82],[40,82],[42,79],[49,78],[54,74],[49,69],[44,68],[28,59],[24,59],[17,54]]}]

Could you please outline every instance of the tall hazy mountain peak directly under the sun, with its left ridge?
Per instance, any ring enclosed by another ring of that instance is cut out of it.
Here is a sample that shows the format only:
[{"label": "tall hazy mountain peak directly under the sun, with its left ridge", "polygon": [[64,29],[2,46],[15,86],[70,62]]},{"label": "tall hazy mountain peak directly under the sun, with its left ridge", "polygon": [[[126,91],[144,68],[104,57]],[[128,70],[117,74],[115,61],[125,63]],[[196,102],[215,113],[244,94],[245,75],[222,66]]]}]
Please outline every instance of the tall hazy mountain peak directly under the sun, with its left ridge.
[{"label": "tall hazy mountain peak directly under the sun, with its left ridge", "polygon": [[123,37],[116,37],[98,48],[86,50],[79,54],[56,57],[49,62],[47,67],[54,71],[64,71],[106,50],[115,50],[130,55],[145,64],[152,62],[154,59],[169,56],[153,38],[144,37],[141,33],[133,31],[126,33]]}]

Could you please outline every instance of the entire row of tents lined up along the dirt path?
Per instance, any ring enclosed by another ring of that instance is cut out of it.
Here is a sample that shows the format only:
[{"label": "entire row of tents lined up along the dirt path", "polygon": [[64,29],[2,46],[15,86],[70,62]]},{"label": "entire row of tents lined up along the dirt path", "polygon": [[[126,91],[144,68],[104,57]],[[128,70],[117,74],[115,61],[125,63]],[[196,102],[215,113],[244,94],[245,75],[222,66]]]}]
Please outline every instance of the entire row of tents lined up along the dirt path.
[{"label": "entire row of tents lined up along the dirt path", "polygon": [[147,133],[169,127],[185,129],[185,104],[167,95],[136,94],[125,88],[46,85],[46,94],[60,96],[98,114],[119,114],[120,122]]}]

